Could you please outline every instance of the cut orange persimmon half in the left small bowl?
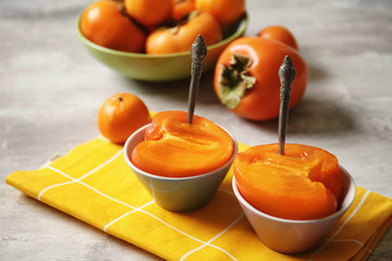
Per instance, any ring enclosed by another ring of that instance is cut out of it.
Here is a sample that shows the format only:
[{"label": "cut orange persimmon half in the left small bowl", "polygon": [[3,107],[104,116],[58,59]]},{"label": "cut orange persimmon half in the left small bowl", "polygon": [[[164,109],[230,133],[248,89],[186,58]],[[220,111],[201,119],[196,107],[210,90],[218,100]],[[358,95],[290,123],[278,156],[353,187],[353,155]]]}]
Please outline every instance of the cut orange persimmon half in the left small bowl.
[{"label": "cut orange persimmon half in the left small bowl", "polygon": [[154,175],[186,177],[219,169],[233,153],[232,137],[211,121],[194,115],[189,124],[186,112],[164,111],[155,115],[131,161]]}]

